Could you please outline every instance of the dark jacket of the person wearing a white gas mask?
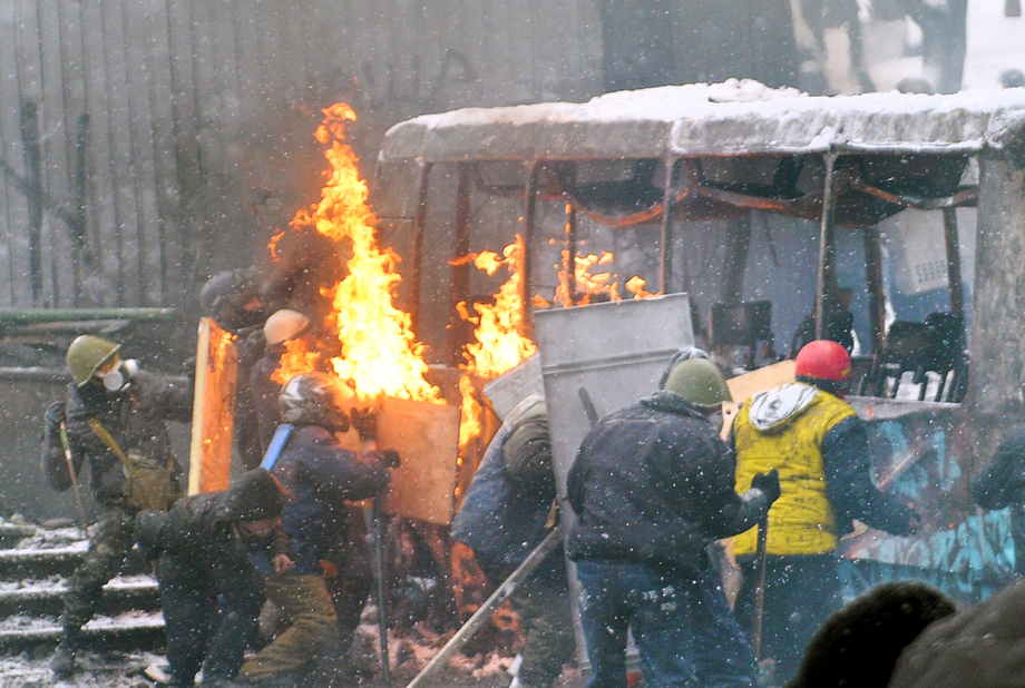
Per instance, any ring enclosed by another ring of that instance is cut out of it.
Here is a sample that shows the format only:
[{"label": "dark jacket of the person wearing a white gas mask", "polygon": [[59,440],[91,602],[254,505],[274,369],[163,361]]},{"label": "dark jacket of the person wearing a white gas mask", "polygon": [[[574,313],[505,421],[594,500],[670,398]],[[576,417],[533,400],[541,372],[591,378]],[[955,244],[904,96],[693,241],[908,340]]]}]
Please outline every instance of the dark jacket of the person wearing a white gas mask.
[{"label": "dark jacket of the person wearing a white gas mask", "polygon": [[[65,405],[65,427],[71,448],[76,474],[88,460],[92,495],[104,505],[124,505],[121,486],[125,472],[121,462],[88,423],[96,417],[117,441],[121,451],[135,449],[153,459],[174,461],[175,473],[182,468],[174,459],[170,436],[165,421],[192,421],[193,384],[187,377],[163,376],[139,371],[131,386],[117,393],[89,382],[81,387],[68,385]],[[60,442],[59,435],[48,433],[49,444]],[[64,450],[43,452],[43,473],[50,485],[59,491],[71,486],[71,475]]]}]

